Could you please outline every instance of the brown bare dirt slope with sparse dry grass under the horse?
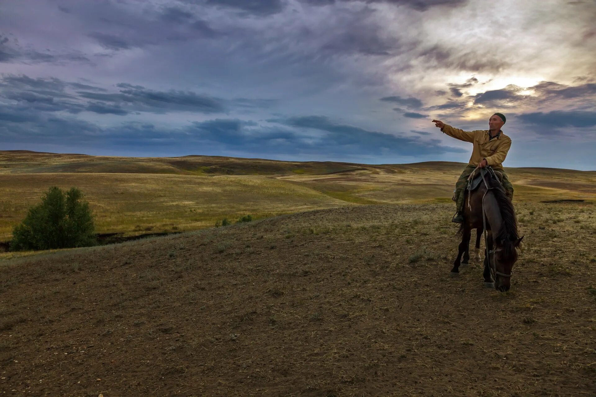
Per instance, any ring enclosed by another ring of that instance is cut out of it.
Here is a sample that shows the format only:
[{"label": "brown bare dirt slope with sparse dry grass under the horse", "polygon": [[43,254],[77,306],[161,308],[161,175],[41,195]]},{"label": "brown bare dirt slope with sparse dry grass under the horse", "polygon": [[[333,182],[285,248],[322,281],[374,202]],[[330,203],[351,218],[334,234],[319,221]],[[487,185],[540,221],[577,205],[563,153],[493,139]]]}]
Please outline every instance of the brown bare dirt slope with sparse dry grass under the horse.
[{"label": "brown bare dirt slope with sparse dry grass under the horse", "polygon": [[452,204],[367,205],[7,261],[0,393],[594,396],[594,204],[516,206],[510,292],[449,277]]}]

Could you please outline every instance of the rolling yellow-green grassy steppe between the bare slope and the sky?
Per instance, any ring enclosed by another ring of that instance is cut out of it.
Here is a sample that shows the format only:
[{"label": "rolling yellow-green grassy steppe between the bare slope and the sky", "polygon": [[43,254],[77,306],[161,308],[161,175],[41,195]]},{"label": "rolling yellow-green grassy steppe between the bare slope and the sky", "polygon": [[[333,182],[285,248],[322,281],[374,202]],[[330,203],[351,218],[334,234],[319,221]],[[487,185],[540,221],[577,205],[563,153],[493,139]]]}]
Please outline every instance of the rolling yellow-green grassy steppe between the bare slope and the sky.
[{"label": "rolling yellow-green grassy steppe between the bare slope and the sky", "polygon": [[[50,186],[79,187],[100,233],[210,227],[342,205],[450,202],[464,164],[347,164],[0,152],[0,241]],[[596,172],[507,168],[514,202],[596,198]]]}]

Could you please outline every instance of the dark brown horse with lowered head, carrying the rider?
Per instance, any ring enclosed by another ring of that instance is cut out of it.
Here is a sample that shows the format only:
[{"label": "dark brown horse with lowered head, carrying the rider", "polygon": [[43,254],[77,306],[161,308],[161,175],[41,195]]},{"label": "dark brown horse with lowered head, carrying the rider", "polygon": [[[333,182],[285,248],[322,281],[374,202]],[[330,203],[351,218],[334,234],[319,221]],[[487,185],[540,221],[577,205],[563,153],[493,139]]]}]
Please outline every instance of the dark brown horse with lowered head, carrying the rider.
[{"label": "dark brown horse with lowered head, carrying the rider", "polygon": [[[476,178],[482,180],[473,183]],[[469,181],[464,190],[464,222],[457,232],[461,242],[451,275],[458,276],[460,273],[461,255],[469,249],[471,230],[477,229],[478,237],[483,229],[487,233],[483,272],[485,286],[505,292],[511,287],[512,269],[523,239],[517,230],[516,212],[491,167],[477,168]],[[477,185],[475,189],[474,185]],[[476,247],[479,247],[480,240],[477,238],[476,241]]]}]

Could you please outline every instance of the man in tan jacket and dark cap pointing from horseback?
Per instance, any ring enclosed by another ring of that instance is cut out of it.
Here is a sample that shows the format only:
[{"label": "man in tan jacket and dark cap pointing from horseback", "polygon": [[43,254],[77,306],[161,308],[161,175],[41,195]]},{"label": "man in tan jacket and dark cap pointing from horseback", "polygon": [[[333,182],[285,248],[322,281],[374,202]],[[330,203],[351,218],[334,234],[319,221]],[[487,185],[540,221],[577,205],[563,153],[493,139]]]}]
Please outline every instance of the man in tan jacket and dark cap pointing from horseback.
[{"label": "man in tan jacket and dark cap pointing from horseback", "polygon": [[507,190],[509,198],[513,199],[513,185],[509,182],[502,166],[502,162],[507,157],[509,148],[511,148],[510,137],[501,131],[501,127],[505,124],[505,121],[506,119],[503,114],[495,113],[488,120],[488,130],[464,131],[448,126],[440,120],[433,120],[434,125],[439,127],[443,133],[455,139],[474,144],[470,162],[464,168],[464,172],[461,173],[460,179],[455,183],[457,213],[453,217],[452,222],[463,223],[464,221],[464,189],[467,185],[468,177],[476,167],[484,168],[490,165],[493,170],[499,171],[503,175],[503,187]]}]

